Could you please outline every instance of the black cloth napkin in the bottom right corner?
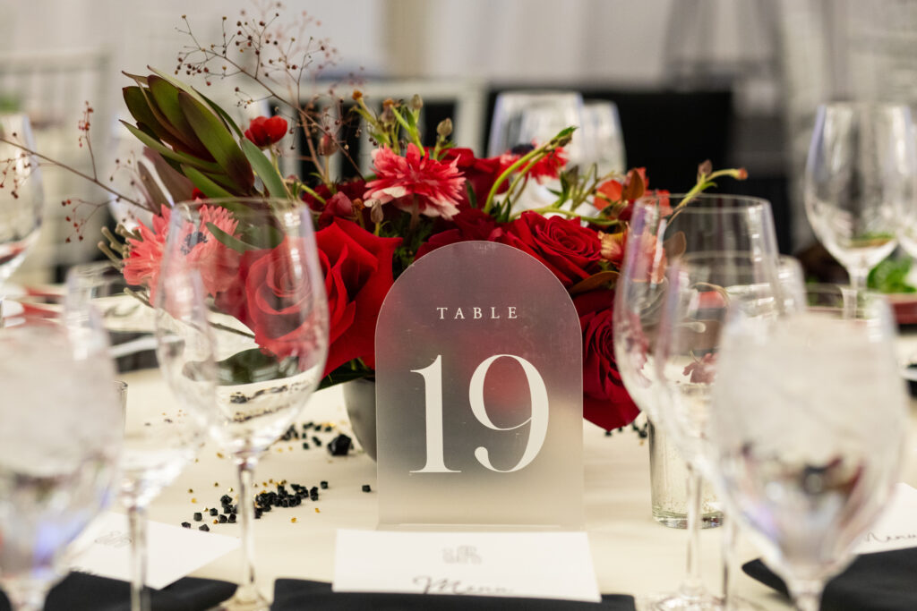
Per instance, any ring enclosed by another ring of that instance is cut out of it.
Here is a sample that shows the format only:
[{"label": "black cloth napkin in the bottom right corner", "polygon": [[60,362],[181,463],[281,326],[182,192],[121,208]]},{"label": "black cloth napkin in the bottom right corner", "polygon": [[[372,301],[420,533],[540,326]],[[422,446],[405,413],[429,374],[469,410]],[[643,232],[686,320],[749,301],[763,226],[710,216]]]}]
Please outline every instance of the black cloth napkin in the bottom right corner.
[{"label": "black cloth napkin in the bottom right corner", "polygon": [[[764,562],[742,569],[783,594],[787,586]],[[822,611],[913,611],[917,609],[917,548],[867,553],[828,582]]]}]

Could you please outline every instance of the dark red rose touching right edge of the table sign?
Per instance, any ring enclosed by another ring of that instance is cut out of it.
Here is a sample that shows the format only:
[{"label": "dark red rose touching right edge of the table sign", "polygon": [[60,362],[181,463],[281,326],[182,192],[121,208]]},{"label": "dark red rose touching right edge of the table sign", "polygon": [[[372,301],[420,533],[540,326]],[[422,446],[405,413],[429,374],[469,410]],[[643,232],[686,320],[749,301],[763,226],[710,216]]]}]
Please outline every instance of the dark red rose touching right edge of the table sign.
[{"label": "dark red rose touching right edge of the table sign", "polygon": [[630,424],[640,413],[614,360],[614,293],[600,289],[573,298],[582,327],[582,415],[605,431]]}]

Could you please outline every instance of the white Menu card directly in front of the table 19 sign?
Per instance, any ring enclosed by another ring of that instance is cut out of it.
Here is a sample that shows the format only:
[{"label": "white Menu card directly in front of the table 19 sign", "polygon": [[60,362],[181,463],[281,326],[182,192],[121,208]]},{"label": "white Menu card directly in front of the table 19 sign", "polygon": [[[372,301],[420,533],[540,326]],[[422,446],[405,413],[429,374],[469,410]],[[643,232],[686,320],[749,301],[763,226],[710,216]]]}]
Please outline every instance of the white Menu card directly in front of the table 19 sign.
[{"label": "white Menu card directly in front of the table 19 sign", "polygon": [[584,532],[341,529],[333,589],[602,600]]}]

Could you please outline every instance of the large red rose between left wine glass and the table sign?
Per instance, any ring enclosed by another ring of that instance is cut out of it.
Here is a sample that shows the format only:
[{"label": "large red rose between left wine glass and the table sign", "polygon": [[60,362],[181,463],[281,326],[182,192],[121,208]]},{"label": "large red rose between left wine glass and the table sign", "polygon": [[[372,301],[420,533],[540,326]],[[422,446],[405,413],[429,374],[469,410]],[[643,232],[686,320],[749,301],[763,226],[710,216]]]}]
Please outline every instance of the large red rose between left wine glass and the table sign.
[{"label": "large red rose between left wine glass and the table sign", "polygon": [[392,288],[392,256],[401,242],[340,218],[315,234],[328,294],[325,376],[355,358],[375,367],[376,320]]}]

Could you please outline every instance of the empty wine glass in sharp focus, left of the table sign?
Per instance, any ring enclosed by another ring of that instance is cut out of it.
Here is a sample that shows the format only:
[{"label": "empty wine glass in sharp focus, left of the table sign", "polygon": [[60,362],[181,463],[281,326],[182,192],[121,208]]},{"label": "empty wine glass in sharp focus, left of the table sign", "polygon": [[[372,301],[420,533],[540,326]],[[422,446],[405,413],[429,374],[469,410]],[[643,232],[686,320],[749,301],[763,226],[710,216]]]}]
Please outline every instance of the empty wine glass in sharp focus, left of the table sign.
[{"label": "empty wine glass in sharp focus, left of the table sign", "polygon": [[156,304],[160,366],[238,470],[243,574],[222,609],[267,609],[255,586],[255,465],[317,387],[325,282],[301,202],[210,200],[171,211]]}]

